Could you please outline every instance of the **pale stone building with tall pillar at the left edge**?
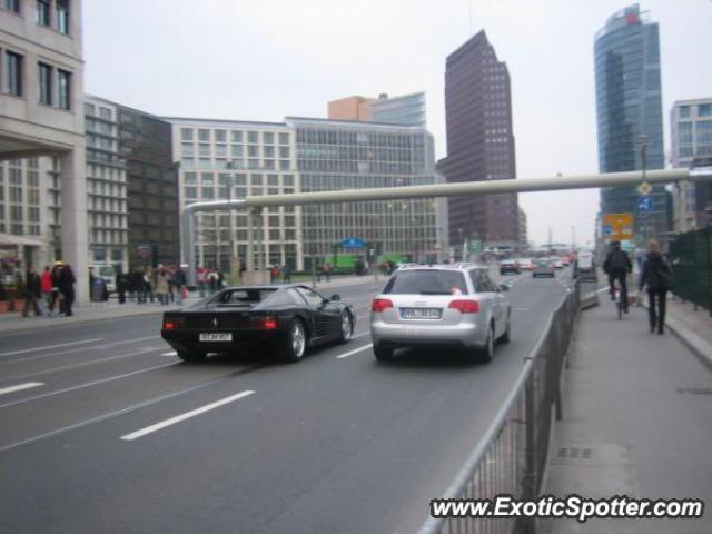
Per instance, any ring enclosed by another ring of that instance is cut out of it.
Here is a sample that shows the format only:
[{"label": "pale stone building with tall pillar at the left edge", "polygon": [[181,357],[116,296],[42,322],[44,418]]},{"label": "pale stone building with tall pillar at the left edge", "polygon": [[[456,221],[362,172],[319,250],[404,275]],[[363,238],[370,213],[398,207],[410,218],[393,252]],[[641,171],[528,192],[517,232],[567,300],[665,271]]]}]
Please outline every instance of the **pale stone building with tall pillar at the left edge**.
[{"label": "pale stone building with tall pillar at the left edge", "polygon": [[[18,179],[20,167],[29,171],[30,184],[22,187],[22,194],[29,195],[30,190],[43,190],[39,182],[34,186],[40,165],[34,158],[55,158],[57,168],[52,171],[57,172],[62,205],[61,247],[56,254],[73,266],[77,299],[85,301],[88,233],[81,42],[81,0],[0,2],[0,160],[11,161],[6,168],[12,180]],[[19,164],[21,159],[26,161]],[[18,186],[12,185],[16,191]],[[32,210],[29,219],[24,212],[20,218],[20,205],[14,206],[10,218],[23,222],[10,226],[3,245],[22,249],[26,264],[40,261],[39,244],[19,243],[23,235],[12,237],[12,231],[37,231],[37,202],[28,202]]]}]

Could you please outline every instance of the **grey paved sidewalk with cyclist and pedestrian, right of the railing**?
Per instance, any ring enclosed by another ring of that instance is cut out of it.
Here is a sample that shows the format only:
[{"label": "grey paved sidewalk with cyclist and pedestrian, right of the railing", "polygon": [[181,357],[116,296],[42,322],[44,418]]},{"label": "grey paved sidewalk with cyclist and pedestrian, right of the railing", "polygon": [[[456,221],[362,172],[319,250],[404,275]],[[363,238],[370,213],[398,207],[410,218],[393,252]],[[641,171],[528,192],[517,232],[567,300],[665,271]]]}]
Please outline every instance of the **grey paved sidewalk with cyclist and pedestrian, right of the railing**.
[{"label": "grey paved sidewalk with cyclist and pedestrian, right of the railing", "polygon": [[[663,336],[649,333],[644,308],[632,307],[619,320],[605,294],[600,306],[583,312],[543,494],[702,498],[705,516],[584,524],[542,520],[540,532],[712,532],[712,373],[670,334],[675,322],[679,335],[686,335],[693,320],[710,319],[706,312],[691,316],[694,312],[680,303],[670,304],[671,328]],[[699,348],[712,354],[712,344],[699,337],[705,344]]]}]

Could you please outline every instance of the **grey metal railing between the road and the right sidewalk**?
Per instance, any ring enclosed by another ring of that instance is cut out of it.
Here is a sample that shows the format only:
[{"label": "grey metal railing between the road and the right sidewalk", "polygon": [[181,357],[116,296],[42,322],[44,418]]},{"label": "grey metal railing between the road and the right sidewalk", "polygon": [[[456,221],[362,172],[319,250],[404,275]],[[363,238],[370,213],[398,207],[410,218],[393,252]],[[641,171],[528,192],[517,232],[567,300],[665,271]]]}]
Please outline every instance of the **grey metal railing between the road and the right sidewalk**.
[{"label": "grey metal railing between the road and the right sidewalk", "polygon": [[[553,418],[562,416],[562,369],[580,310],[580,288],[574,283],[552,313],[538,343],[502,408],[479,439],[443,498],[492,500],[538,497],[552,443]],[[527,533],[532,518],[434,518],[418,534]]]}]

